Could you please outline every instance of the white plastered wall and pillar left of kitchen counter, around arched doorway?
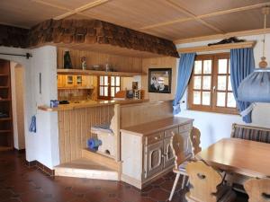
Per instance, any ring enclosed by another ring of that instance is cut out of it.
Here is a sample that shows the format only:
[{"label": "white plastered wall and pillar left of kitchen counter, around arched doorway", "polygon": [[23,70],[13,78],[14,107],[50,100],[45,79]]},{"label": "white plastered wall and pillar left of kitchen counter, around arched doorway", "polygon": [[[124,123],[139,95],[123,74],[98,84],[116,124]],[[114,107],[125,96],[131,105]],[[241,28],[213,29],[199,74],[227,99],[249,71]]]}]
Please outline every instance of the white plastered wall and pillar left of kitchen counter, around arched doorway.
[{"label": "white plastered wall and pillar left of kitchen counter, around arched doorway", "polygon": [[[24,133],[26,160],[37,160],[50,169],[59,163],[58,114],[37,110],[37,106],[57,99],[57,49],[45,46],[34,49],[0,47],[0,52],[32,54],[32,57],[5,56],[0,58],[21,64],[24,68]],[[41,74],[41,93],[40,93]],[[37,133],[29,132],[31,116],[36,115]]]}]

